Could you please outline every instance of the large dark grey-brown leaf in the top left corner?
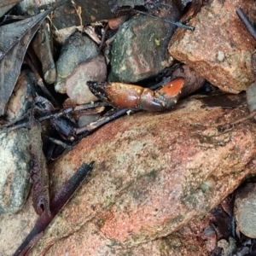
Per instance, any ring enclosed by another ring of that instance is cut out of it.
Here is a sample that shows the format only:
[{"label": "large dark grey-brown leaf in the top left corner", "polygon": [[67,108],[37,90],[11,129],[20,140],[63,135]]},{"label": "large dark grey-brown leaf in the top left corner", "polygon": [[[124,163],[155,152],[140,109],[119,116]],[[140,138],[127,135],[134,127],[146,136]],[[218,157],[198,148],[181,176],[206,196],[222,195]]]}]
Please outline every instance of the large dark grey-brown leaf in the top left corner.
[{"label": "large dark grey-brown leaf in the top left corner", "polygon": [[15,88],[28,44],[44,18],[65,2],[62,0],[44,13],[0,27],[0,115],[4,114]]}]

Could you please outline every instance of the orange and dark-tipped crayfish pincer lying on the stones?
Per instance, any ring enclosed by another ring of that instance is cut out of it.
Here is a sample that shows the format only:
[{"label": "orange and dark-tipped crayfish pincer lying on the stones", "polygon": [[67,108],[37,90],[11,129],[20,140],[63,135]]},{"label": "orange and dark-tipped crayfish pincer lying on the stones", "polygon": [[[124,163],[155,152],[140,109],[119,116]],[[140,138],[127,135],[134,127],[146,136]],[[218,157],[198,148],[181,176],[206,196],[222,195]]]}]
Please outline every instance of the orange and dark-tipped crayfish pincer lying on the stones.
[{"label": "orange and dark-tipped crayfish pincer lying on the stones", "polygon": [[92,81],[88,81],[87,84],[96,97],[113,107],[163,111],[177,103],[184,79],[174,79],[155,91],[134,84]]}]

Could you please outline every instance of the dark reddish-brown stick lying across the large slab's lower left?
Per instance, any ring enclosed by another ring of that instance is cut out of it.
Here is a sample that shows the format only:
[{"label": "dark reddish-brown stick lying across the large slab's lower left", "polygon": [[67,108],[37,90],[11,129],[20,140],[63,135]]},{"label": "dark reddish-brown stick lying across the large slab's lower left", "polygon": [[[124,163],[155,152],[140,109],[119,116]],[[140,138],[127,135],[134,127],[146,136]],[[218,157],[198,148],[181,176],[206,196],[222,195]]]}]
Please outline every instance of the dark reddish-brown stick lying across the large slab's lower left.
[{"label": "dark reddish-brown stick lying across the large slab's lower left", "polygon": [[90,165],[83,164],[80,166],[78,172],[71,177],[60,191],[49,202],[49,209],[51,215],[43,214],[38,218],[32,231],[26,236],[26,239],[22,242],[20,247],[16,250],[14,256],[24,256],[28,253],[36,242],[44,235],[44,230],[48,227],[50,222],[61,211],[61,209],[67,204],[74,192],[79,188],[79,185],[84,181],[84,178],[91,172],[94,166],[94,162]]}]

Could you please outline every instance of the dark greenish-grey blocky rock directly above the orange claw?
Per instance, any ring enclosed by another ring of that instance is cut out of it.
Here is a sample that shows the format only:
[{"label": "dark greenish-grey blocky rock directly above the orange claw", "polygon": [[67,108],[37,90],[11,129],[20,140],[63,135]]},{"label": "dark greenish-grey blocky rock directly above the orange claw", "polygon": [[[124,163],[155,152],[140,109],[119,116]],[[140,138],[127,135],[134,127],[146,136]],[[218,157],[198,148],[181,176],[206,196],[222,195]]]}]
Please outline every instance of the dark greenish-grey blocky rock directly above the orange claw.
[{"label": "dark greenish-grey blocky rock directly above the orange claw", "polygon": [[[179,12],[172,9],[172,20]],[[175,26],[149,16],[139,15],[120,26],[113,42],[111,72],[108,80],[136,83],[154,77],[172,64],[167,45]]]}]

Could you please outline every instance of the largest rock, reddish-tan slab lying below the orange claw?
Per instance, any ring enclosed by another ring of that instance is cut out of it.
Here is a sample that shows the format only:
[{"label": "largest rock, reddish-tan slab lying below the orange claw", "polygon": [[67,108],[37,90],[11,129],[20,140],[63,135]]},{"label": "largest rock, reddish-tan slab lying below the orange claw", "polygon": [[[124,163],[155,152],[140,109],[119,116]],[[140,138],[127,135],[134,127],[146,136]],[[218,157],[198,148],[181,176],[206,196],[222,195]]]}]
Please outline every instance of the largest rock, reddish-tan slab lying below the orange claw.
[{"label": "largest rock, reddish-tan slab lying below the orange claw", "polygon": [[95,160],[94,170],[29,255],[52,245],[47,255],[121,255],[206,214],[254,172],[253,122],[217,130],[244,110],[201,108],[189,99],[175,111],[125,116],[84,138],[51,167],[51,193],[84,161]]}]

